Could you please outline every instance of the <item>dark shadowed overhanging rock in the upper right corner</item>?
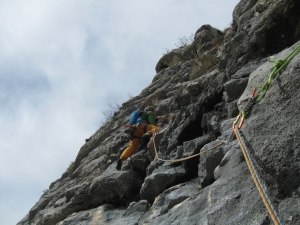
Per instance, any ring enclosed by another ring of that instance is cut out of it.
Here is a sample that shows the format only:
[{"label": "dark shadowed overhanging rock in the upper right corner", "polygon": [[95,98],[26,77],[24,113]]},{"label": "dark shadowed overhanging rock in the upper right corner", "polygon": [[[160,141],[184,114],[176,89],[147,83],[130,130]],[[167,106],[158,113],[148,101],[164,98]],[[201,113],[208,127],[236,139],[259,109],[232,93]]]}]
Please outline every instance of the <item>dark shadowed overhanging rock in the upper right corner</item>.
[{"label": "dark shadowed overhanging rock in the upper right corner", "polygon": [[[219,67],[226,68],[228,78],[248,62],[268,57],[299,40],[299,32],[290,33],[290,27],[299,29],[298,4],[265,0],[242,0],[237,4],[231,35],[223,46]],[[282,11],[284,7],[286,10]]]}]

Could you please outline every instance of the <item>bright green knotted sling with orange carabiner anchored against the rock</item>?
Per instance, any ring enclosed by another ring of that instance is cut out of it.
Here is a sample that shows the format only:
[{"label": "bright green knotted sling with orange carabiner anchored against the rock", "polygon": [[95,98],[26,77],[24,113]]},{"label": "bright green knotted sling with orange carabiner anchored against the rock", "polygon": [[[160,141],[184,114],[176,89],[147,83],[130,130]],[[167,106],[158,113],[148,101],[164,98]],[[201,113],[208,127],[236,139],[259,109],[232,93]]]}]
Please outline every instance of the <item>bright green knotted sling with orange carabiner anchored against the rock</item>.
[{"label": "bright green knotted sling with orange carabiner anchored against the rock", "polygon": [[[240,123],[238,128],[240,129],[244,123],[244,120],[247,116],[247,114],[249,113],[250,109],[252,108],[252,106],[259,102],[267,93],[269,86],[271,84],[271,81],[276,77],[276,75],[284,68],[287,66],[287,64],[300,52],[300,45],[295,48],[285,59],[283,60],[269,60],[269,62],[275,63],[273,71],[271,72],[271,74],[269,75],[269,78],[267,79],[267,81],[258,87],[255,87],[252,91],[251,94],[251,98],[249,99],[247,105],[245,106],[245,108],[241,111],[241,113],[238,115],[237,120],[240,119]],[[255,96],[256,90],[260,88],[261,89],[261,93],[258,96]]]}]

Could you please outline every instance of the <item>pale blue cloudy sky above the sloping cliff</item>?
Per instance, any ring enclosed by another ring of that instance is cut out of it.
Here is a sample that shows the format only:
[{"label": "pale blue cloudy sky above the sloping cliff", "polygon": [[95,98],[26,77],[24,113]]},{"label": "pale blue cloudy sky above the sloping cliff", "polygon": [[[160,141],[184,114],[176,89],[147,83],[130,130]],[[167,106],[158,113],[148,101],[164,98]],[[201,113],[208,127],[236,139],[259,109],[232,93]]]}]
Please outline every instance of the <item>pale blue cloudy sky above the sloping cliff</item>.
[{"label": "pale blue cloudy sky above the sloping cliff", "polygon": [[238,0],[0,0],[0,224],[19,222],[166,49]]}]

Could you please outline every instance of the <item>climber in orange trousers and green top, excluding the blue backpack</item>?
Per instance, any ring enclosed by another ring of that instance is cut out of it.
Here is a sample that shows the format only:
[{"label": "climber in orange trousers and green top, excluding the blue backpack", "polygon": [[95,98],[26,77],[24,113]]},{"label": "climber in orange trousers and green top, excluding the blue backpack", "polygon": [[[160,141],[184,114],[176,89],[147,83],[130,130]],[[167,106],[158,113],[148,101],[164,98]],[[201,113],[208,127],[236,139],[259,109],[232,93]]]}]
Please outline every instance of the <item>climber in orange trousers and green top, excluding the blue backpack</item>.
[{"label": "climber in orange trousers and green top, excluding the blue backpack", "polygon": [[162,116],[158,116],[155,118],[155,107],[147,106],[144,111],[145,113],[141,115],[142,123],[137,126],[133,134],[134,137],[130,141],[129,146],[123,151],[123,153],[120,156],[120,159],[117,162],[117,170],[120,170],[123,161],[127,160],[127,158],[130,157],[137,150],[140,143],[140,139],[145,133],[154,134],[161,128],[160,126],[157,126],[156,123],[159,118],[162,118]]}]

